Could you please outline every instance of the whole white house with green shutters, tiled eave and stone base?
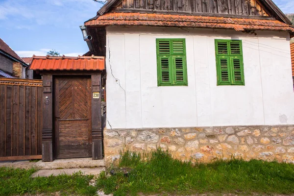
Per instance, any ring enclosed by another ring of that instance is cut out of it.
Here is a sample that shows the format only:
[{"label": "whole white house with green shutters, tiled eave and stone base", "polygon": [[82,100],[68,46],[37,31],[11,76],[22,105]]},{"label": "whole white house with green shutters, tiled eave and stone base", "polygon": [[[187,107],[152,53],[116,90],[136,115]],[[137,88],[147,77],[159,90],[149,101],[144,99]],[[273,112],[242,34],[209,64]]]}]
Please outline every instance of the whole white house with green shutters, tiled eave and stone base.
[{"label": "whole white house with green shutters, tiled eave and stone base", "polygon": [[271,0],[109,0],[85,22],[106,56],[104,156],[294,163],[294,27]]}]

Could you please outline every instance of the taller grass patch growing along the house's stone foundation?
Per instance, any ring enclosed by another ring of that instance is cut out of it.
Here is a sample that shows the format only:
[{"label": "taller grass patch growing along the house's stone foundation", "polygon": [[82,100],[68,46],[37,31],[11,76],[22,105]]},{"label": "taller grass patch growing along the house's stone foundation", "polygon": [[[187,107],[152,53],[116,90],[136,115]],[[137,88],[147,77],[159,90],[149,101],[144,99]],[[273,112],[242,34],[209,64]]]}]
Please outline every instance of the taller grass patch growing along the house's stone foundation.
[{"label": "taller grass patch growing along the house's stone foundation", "polygon": [[[144,161],[143,161],[144,159]],[[128,177],[101,173],[98,189],[114,196],[143,194],[233,193],[236,195],[294,194],[294,165],[251,160],[183,163],[166,151],[125,152],[119,167],[130,167]]]}]

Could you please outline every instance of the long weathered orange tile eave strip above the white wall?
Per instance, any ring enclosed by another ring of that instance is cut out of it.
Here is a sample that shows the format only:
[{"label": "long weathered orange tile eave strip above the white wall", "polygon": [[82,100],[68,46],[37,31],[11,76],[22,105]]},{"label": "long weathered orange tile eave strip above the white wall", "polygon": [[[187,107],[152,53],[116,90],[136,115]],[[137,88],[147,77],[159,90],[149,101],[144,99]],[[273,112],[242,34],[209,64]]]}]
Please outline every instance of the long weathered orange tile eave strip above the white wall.
[{"label": "long weathered orange tile eave strip above the white wall", "polygon": [[113,13],[109,12],[95,20],[85,22],[86,26],[131,25],[221,28],[243,30],[292,31],[294,27],[278,20],[240,19],[208,16],[180,16],[169,14]]}]

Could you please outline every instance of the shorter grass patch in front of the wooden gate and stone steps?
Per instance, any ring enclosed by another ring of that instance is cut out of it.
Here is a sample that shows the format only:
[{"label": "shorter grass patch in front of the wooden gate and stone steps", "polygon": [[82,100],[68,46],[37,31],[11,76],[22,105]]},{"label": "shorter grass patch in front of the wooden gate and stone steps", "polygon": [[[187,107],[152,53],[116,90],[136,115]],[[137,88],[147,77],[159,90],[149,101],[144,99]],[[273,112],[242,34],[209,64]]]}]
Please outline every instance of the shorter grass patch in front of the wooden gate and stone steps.
[{"label": "shorter grass patch in front of the wooden gate and stone steps", "polygon": [[60,195],[95,195],[97,188],[89,186],[93,176],[84,176],[81,173],[50,177],[31,178],[35,169],[22,170],[0,168],[0,196],[24,195],[37,193],[56,193]]}]

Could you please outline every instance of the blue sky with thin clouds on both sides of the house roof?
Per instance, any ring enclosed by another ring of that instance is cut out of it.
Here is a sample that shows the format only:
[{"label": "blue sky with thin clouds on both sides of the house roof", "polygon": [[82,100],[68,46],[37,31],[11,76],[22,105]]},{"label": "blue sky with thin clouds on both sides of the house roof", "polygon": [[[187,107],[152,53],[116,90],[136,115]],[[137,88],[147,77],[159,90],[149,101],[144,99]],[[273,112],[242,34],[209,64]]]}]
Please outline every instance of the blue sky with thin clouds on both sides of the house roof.
[{"label": "blue sky with thin clouds on both sides of the house roof", "polygon": [[[284,13],[294,13],[294,0],[273,1]],[[81,55],[88,48],[79,25],[100,7],[93,0],[0,0],[0,38],[21,57],[50,49]]]}]

